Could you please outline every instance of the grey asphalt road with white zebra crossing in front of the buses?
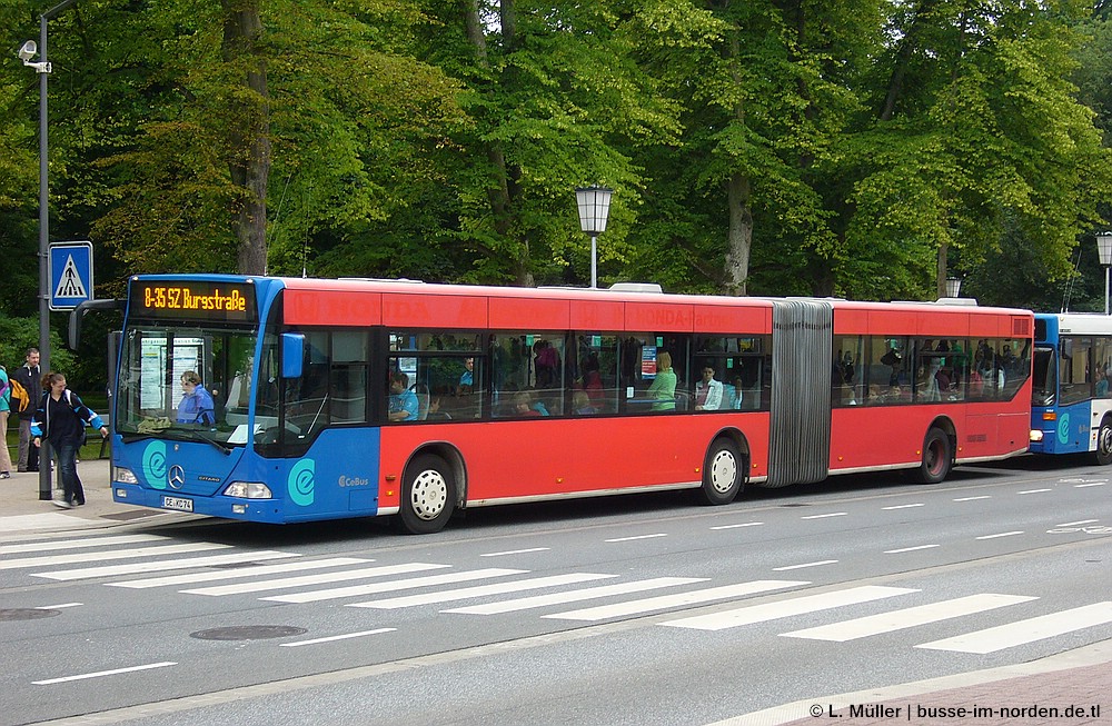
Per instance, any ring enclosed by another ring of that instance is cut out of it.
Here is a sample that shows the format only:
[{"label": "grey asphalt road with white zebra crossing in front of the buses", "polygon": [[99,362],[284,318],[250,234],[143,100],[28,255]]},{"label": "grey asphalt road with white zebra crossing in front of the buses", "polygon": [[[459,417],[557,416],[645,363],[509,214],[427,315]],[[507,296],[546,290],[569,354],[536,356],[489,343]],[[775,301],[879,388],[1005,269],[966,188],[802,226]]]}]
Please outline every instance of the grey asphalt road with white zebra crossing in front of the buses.
[{"label": "grey asphalt road with white zebra crossing in front of the buses", "polygon": [[1110,475],[9,535],[0,724],[711,724],[1022,663],[1112,638]]}]

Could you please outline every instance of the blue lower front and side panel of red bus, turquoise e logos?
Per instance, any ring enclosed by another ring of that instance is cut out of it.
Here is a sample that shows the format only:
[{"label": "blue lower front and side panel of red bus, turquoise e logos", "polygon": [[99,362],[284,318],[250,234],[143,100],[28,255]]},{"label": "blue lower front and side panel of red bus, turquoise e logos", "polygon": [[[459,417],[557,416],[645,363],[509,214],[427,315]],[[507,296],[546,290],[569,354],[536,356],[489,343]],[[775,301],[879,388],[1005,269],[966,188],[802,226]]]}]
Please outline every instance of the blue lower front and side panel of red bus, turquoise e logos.
[{"label": "blue lower front and side panel of red bus, turquoise e logos", "polygon": [[[296,459],[158,439],[118,444],[116,466],[140,483],[112,483],[120,504],[272,524],[378,514],[378,429],[328,429]],[[266,485],[270,498],[222,494],[237,481]]]}]

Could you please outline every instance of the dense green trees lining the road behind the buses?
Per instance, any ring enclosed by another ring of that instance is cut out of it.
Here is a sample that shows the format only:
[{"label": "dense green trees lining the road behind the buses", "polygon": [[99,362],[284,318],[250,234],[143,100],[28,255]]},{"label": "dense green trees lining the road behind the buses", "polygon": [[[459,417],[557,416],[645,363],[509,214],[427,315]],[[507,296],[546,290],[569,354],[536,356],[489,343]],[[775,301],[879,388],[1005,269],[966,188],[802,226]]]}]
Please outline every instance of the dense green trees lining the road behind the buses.
[{"label": "dense green trees lining the road behind the buses", "polygon": [[[53,4],[0,0],[6,46]],[[929,299],[956,275],[1101,309],[1109,12],[79,0],[49,21],[50,238],[93,240],[101,298],[151,271],[585,285],[573,189],[600,182],[603,285]],[[2,67],[0,329],[33,332],[38,79]],[[78,380],[103,378],[92,325]]]}]

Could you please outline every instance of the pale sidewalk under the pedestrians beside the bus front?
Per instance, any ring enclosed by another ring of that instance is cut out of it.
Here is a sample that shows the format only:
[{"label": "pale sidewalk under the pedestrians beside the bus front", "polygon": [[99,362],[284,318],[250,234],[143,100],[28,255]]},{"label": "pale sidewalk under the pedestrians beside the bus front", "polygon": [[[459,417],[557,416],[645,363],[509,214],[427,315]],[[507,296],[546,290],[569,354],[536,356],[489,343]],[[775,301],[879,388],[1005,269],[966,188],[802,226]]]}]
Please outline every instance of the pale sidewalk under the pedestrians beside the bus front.
[{"label": "pale sidewalk under the pedestrians beside the bus front", "polygon": [[[61,509],[51,501],[39,498],[38,471],[12,471],[10,479],[0,481],[0,536],[73,527],[111,527],[126,521],[163,521],[180,517],[176,513],[112,501],[108,459],[82,460],[78,464],[77,471],[85,485],[86,504],[72,509]],[[54,487],[51,495],[60,501],[62,493],[58,488],[60,481],[57,471],[51,475],[51,483]]]}]

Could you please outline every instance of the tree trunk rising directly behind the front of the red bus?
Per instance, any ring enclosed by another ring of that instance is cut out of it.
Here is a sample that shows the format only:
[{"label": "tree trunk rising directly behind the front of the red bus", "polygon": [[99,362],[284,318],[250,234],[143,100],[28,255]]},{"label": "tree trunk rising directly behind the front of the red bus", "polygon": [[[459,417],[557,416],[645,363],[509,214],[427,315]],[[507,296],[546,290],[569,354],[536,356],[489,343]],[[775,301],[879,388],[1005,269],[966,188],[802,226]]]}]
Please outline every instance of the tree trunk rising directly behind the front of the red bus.
[{"label": "tree trunk rising directly behind the front of the red bus", "polygon": [[230,158],[232,183],[240,189],[235,226],[239,272],[265,275],[267,271],[267,187],[270,179],[270,103],[267,70],[257,41],[262,33],[258,0],[221,0],[226,63],[241,64],[248,89],[247,101],[230,115]]}]

